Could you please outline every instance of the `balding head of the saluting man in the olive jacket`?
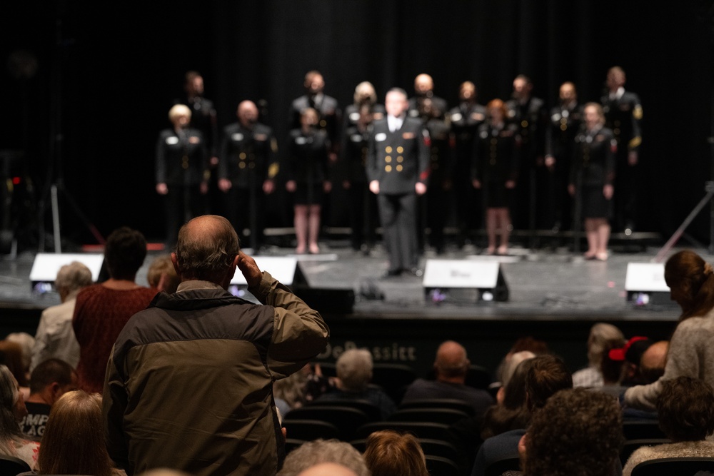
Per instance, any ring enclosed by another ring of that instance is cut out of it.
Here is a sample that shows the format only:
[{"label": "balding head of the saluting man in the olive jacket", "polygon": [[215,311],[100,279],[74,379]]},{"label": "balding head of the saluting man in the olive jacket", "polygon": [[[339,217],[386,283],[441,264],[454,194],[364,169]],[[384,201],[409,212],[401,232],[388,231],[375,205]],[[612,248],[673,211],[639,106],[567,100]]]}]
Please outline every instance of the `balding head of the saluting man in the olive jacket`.
[{"label": "balding head of the saluting man in the olive jacket", "polygon": [[226,218],[204,215],[193,218],[178,231],[171,260],[181,281],[198,279],[223,285],[226,276],[228,282],[233,278],[240,250],[238,235]]}]

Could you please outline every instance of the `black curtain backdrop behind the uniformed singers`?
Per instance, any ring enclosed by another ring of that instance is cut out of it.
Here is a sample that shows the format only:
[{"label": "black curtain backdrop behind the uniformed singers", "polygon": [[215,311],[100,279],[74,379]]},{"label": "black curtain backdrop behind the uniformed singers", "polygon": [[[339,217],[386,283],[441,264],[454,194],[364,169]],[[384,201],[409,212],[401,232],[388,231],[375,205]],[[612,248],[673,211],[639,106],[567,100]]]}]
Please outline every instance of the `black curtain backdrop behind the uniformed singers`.
[{"label": "black curtain backdrop behind the uniformed singers", "polygon": [[[486,103],[507,98],[513,77],[527,74],[550,106],[563,81],[576,84],[580,101],[597,101],[607,69],[620,65],[644,109],[640,228],[668,235],[710,178],[711,1],[12,3],[4,6],[2,57],[24,49],[38,62],[31,79],[16,79],[9,68],[1,76],[0,149],[26,149],[14,167],[34,185],[21,208],[26,221],[57,156],[51,117],[61,98],[61,171],[81,211],[104,236],[126,224],[161,238],[155,141],[188,69],[203,74],[221,127],[234,121],[242,99],[264,99],[266,121],[282,139],[288,106],[309,69],[323,73],[326,93],[341,106],[360,81],[372,81],[382,99],[391,86],[412,91],[422,72],[450,105],[462,81],[474,81]],[[65,236],[93,242],[62,204]],[[270,225],[291,221],[283,194],[268,213]],[[707,215],[690,229],[703,240]]]}]

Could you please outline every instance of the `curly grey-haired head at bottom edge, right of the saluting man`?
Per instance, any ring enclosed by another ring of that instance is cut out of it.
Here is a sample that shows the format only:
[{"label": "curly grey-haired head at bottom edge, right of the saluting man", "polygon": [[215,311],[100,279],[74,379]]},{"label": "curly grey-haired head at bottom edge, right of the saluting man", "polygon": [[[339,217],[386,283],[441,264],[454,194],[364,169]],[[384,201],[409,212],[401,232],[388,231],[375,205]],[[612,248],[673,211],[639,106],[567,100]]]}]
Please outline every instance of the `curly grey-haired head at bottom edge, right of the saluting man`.
[{"label": "curly grey-haired head at bottom edge, right of the saluting man", "polygon": [[338,440],[314,440],[303,443],[285,457],[277,476],[298,476],[321,463],[348,467],[358,476],[370,476],[364,457],[352,445]]}]

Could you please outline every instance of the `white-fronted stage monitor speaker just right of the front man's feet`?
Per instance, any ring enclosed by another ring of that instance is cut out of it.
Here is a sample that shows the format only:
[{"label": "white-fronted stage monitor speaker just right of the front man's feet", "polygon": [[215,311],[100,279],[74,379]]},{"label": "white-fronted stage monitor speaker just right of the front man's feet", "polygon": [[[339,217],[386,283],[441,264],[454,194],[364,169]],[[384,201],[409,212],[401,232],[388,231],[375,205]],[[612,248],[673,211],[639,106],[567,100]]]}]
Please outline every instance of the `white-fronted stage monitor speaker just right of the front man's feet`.
[{"label": "white-fronted stage monitor speaker just right of the front man's feet", "polygon": [[508,300],[508,285],[496,260],[427,260],[423,288],[433,303]]}]

